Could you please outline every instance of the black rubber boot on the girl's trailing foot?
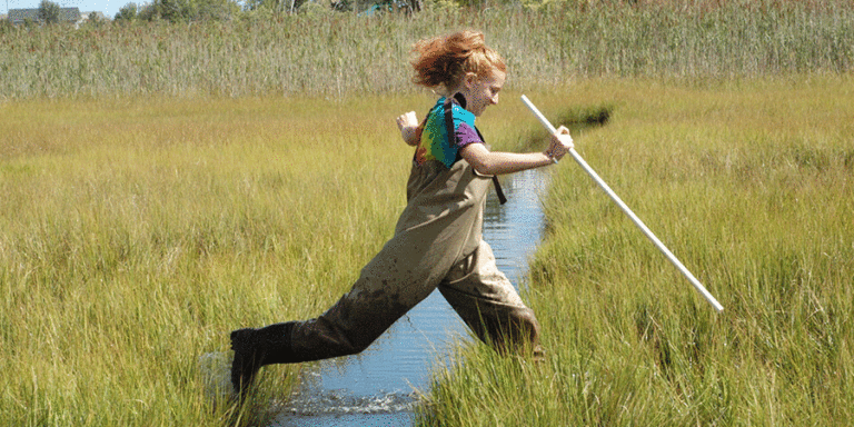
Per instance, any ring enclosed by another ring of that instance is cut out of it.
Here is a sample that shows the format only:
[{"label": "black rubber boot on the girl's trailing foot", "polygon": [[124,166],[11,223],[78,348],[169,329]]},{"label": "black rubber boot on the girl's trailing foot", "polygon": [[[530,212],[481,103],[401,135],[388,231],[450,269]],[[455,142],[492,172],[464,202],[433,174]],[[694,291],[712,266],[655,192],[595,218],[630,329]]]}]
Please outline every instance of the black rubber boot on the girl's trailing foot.
[{"label": "black rubber boot on the girl's trailing foot", "polygon": [[265,365],[296,361],[291,356],[290,331],[294,322],[275,324],[260,329],[245,328],[231,332],[231,385],[244,397],[258,369]]}]

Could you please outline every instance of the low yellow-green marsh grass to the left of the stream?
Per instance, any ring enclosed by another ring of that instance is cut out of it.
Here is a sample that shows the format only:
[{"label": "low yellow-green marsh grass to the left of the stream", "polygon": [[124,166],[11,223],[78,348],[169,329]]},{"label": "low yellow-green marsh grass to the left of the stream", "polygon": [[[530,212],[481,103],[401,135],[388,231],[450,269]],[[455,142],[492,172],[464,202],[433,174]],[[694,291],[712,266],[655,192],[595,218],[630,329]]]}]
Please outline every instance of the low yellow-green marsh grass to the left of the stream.
[{"label": "low yellow-green marsh grass to the left of the stream", "polygon": [[0,407],[10,425],[262,417],[289,368],[269,369],[257,407],[241,409],[205,396],[199,357],[227,351],[231,329],[320,314],[404,203],[400,103],[1,108],[11,137],[0,148]]}]

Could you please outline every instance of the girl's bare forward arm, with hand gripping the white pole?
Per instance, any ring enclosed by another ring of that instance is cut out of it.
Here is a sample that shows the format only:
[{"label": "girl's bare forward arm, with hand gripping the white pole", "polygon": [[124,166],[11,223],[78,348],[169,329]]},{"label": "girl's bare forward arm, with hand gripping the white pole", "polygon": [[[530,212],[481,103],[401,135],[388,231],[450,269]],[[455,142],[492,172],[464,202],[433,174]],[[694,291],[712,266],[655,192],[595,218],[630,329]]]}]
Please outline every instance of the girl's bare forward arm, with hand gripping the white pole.
[{"label": "girl's bare forward arm, with hand gripping the white pole", "polygon": [[505,175],[552,165],[573,147],[569,130],[562,126],[543,152],[494,152],[483,143],[469,143],[459,149],[459,155],[480,175]]}]

